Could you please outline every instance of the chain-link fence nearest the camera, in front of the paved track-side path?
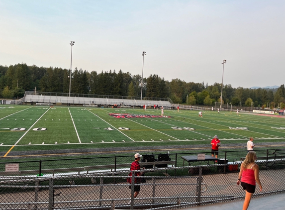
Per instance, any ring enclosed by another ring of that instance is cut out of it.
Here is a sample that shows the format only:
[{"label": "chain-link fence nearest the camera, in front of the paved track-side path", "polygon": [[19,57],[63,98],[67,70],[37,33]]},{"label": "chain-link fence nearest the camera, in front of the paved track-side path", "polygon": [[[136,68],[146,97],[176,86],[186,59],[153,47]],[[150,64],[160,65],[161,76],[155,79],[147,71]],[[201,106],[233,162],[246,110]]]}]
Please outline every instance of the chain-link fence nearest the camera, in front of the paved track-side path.
[{"label": "chain-link fence nearest the camera, in front of the paved track-side path", "polygon": [[[263,192],[255,196],[285,191],[285,161],[275,161],[278,170],[266,170],[260,162],[260,180]],[[237,186],[238,171],[216,173],[219,167],[229,164],[187,166],[176,168],[145,169],[146,182],[126,182],[129,171],[51,176],[51,177],[1,177],[1,210],[114,210],[114,209],[163,209],[172,210],[209,203],[233,201],[244,198],[244,191]],[[281,169],[282,168],[282,169]],[[196,175],[169,176],[173,171]],[[134,173],[132,173],[134,174]],[[133,198],[134,187],[140,193]]]}]

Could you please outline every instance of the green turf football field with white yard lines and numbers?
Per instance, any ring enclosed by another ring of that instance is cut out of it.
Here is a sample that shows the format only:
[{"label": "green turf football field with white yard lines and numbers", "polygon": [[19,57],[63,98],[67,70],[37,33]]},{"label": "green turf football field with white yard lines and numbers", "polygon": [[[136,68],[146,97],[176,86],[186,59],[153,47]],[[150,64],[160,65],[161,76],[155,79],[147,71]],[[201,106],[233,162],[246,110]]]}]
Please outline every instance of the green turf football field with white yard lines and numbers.
[{"label": "green turf football field with white yard lines and numbers", "polygon": [[[111,116],[110,114],[130,114]],[[285,118],[240,112],[0,105],[0,152],[284,142]],[[156,117],[152,117],[156,116]]]}]

